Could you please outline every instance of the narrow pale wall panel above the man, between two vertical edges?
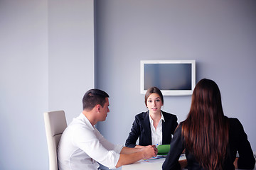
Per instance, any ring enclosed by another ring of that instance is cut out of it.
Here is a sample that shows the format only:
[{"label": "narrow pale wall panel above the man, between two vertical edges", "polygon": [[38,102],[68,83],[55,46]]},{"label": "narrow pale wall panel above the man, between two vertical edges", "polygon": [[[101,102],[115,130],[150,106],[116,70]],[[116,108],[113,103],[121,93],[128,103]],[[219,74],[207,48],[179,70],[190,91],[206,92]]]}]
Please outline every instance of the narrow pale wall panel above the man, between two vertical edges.
[{"label": "narrow pale wall panel above the man, between two vertical edges", "polygon": [[68,121],[82,111],[95,84],[93,0],[48,1],[49,110]]}]

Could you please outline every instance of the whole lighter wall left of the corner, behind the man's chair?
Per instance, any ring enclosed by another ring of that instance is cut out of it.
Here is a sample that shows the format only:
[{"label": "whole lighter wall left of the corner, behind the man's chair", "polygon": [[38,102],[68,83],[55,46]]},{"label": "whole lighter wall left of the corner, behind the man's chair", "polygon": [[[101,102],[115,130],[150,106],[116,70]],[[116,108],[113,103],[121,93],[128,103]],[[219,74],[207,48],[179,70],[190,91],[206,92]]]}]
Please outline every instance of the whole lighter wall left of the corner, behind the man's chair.
[{"label": "whole lighter wall left of the corner, behind the man's chair", "polygon": [[0,169],[48,169],[43,112],[94,87],[93,1],[0,1]]}]

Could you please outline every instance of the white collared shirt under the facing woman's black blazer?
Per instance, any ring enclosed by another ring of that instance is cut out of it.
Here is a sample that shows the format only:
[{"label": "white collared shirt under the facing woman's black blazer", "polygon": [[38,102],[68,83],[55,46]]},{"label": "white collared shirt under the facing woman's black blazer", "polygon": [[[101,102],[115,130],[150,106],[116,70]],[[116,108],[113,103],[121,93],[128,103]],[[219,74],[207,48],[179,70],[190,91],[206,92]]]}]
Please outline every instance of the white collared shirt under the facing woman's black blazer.
[{"label": "white collared shirt under the facing woman's black blazer", "polygon": [[162,121],[164,120],[164,116],[161,113],[161,119],[159,120],[159,124],[156,128],[154,128],[154,120],[149,115],[149,123],[150,123],[150,129],[151,129],[151,138],[152,138],[152,145],[162,145]]}]

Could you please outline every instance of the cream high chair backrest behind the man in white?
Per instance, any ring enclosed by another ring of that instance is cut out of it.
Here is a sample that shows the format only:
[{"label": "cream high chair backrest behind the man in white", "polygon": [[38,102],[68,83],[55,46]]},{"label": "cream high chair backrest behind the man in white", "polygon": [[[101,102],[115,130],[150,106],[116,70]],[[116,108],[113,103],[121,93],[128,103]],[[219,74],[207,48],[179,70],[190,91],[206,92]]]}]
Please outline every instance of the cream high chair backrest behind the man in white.
[{"label": "cream high chair backrest behind the man in white", "polygon": [[49,154],[49,169],[58,170],[57,146],[67,121],[64,111],[51,111],[43,113],[46,126],[46,139]]}]

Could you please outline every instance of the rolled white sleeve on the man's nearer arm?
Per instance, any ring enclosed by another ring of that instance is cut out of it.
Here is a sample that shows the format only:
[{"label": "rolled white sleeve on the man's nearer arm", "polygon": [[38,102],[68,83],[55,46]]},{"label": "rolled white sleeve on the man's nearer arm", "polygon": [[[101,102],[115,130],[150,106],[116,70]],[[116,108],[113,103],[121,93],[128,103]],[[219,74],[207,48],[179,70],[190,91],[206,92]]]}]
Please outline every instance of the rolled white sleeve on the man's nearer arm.
[{"label": "rolled white sleeve on the man's nearer arm", "polygon": [[[115,169],[120,157],[119,150],[121,147],[106,142],[104,137],[102,138],[102,135],[100,135],[101,137],[99,139],[98,133],[100,134],[97,130],[89,130],[81,127],[75,128],[73,131],[73,144],[100,164],[110,169]],[[105,142],[101,143],[100,140]]]}]

